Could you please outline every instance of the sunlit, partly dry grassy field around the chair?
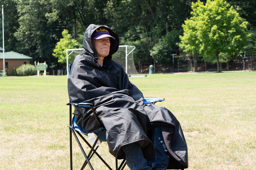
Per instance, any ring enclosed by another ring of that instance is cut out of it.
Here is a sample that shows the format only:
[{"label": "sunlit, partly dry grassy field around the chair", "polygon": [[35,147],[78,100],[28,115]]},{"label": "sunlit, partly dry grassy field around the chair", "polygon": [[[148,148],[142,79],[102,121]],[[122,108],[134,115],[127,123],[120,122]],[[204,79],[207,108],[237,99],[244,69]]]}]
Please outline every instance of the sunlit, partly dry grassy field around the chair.
[{"label": "sunlit, partly dry grassy field around the chair", "polygon": [[[166,99],[157,105],[171,110],[182,126],[188,170],[256,169],[255,71],[130,80],[144,96]],[[1,77],[0,169],[69,169],[67,102],[67,76]],[[80,169],[84,158],[73,145],[74,169]],[[105,169],[96,162],[97,170]]]}]

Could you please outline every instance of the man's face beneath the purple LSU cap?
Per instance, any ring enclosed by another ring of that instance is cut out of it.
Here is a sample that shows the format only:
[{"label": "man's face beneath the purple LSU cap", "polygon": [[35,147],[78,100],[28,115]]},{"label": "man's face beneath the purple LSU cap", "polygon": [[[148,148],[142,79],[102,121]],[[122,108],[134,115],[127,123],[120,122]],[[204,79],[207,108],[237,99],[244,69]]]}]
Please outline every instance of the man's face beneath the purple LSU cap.
[{"label": "man's face beneath the purple LSU cap", "polygon": [[96,50],[97,56],[106,57],[109,54],[110,50],[110,41],[109,37],[101,38],[101,39],[92,39],[92,44]]}]

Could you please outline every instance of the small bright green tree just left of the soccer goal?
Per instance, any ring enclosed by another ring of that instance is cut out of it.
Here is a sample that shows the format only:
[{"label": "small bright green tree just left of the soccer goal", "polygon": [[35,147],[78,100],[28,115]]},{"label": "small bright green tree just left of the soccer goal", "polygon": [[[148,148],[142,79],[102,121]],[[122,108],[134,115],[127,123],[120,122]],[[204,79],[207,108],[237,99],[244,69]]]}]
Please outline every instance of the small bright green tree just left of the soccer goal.
[{"label": "small bright green tree just left of the soccer goal", "polygon": [[82,45],[73,39],[66,29],[62,32],[62,36],[63,38],[57,42],[55,48],[53,49],[52,55],[58,58],[59,63],[64,64],[67,63],[66,49],[79,48],[79,46],[81,47]]}]

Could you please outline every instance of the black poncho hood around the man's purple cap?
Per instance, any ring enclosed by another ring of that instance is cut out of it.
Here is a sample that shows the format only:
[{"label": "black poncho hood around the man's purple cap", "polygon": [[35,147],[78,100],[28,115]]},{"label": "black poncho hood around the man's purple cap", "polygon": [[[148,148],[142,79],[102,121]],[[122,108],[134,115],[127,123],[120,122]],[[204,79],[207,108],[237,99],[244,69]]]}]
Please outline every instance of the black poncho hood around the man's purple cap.
[{"label": "black poncho hood around the man's purple cap", "polygon": [[118,50],[119,38],[118,38],[117,34],[108,26],[99,26],[99,25],[91,24],[87,27],[87,29],[85,30],[85,33],[84,33],[83,53],[82,54],[93,55],[94,58],[96,58],[96,59],[98,58],[97,54],[96,54],[96,50],[92,44],[92,33],[98,28],[105,28],[106,30],[108,30],[110,35],[115,38],[115,40],[110,38],[109,55],[105,57],[106,60],[110,61],[112,59],[112,54],[114,54]]}]

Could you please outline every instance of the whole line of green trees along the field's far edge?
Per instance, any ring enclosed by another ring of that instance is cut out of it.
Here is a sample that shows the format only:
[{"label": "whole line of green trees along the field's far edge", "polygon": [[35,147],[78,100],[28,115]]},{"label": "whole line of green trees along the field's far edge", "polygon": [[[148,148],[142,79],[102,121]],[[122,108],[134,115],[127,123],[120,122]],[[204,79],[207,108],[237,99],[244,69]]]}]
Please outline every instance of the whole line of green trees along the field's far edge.
[{"label": "whole line of green trees along the field's far edge", "polygon": [[[215,1],[219,4],[212,3]],[[33,57],[34,61],[65,67],[54,56],[56,44],[70,36],[76,40],[69,41],[73,43],[70,47],[82,48],[85,29],[93,23],[111,27],[118,34],[120,45],[135,46],[134,62],[140,68],[153,63],[171,65],[171,54],[184,59],[189,57],[195,62],[215,63],[219,62],[218,57],[221,61],[228,61],[241,56],[242,52],[254,56],[256,2],[215,1],[2,0],[4,44],[9,50]],[[203,9],[205,13],[197,12]],[[237,25],[230,26],[229,20],[223,18],[230,10]],[[221,25],[217,24],[218,20],[222,20],[218,23]],[[225,24],[229,27],[223,27]],[[209,27],[211,29],[207,31]],[[238,33],[240,28],[243,31]],[[0,32],[2,35],[2,30]],[[227,36],[234,37],[230,42],[224,42]],[[213,41],[221,37],[220,41]],[[223,50],[223,45],[227,49]]]}]

